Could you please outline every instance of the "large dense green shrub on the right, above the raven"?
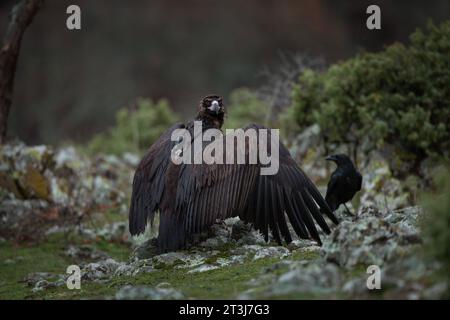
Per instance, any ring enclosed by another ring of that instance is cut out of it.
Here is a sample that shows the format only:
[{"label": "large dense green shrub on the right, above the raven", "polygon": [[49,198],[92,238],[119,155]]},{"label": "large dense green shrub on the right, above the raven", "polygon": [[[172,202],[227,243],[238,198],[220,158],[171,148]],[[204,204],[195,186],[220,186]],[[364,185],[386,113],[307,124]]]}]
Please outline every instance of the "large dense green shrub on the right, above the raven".
[{"label": "large dense green shrub on the right, above the raven", "polygon": [[409,46],[303,72],[287,112],[299,128],[318,123],[327,144],[388,143],[408,161],[449,159],[450,21],[417,30]]}]

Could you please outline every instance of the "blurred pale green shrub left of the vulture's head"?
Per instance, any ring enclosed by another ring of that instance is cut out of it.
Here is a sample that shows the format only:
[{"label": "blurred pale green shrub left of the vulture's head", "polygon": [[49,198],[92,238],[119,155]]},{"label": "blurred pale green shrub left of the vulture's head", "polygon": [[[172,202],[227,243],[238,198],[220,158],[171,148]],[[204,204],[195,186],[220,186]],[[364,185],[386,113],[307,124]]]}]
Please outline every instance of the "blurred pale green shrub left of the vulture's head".
[{"label": "blurred pale green shrub left of the vulture's head", "polygon": [[177,116],[166,100],[154,103],[150,99],[139,98],[134,110],[120,109],[116,113],[115,126],[95,135],[87,149],[91,154],[142,153],[176,120]]}]

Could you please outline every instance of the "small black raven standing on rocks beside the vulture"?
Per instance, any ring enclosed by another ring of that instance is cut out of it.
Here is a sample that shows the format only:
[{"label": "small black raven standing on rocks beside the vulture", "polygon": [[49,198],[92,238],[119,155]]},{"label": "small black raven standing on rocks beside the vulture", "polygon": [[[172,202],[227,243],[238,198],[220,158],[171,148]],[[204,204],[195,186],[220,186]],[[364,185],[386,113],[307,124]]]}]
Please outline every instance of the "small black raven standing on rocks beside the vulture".
[{"label": "small black raven standing on rocks beside the vulture", "polygon": [[355,194],[361,190],[362,176],[356,170],[352,160],[345,154],[328,156],[326,160],[335,162],[337,168],[331,174],[325,200],[333,212],[343,204],[351,215],[345,203],[352,200]]}]

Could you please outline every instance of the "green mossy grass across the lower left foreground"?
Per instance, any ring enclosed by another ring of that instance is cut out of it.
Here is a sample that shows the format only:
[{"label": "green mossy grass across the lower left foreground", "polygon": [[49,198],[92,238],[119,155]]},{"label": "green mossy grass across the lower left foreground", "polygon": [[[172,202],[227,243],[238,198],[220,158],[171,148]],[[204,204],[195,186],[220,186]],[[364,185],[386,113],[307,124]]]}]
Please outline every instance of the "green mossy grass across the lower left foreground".
[{"label": "green mossy grass across the lower left foreground", "polygon": [[[187,274],[188,269],[165,267],[152,273],[134,277],[114,277],[106,284],[93,282],[82,283],[81,290],[68,290],[66,287],[49,288],[45,291],[32,293],[22,281],[32,272],[50,272],[63,274],[68,265],[77,263],[64,256],[63,250],[68,244],[85,243],[76,235],[64,237],[52,235],[48,242],[37,246],[15,246],[3,243],[0,246],[0,298],[1,299],[80,299],[113,296],[117,290],[126,284],[156,286],[161,282],[182,291],[187,297],[196,299],[231,299],[244,290],[250,289],[248,281],[267,272],[279,259],[266,258],[253,261],[247,260],[244,264],[229,266],[201,273]],[[105,251],[118,260],[128,258],[129,249],[123,245],[95,241],[90,243],[96,248]],[[226,258],[229,250],[221,251],[214,257]],[[20,258],[21,257],[21,258]],[[315,259],[316,252],[296,252],[292,259]],[[13,260],[15,262],[11,262]],[[277,271],[277,272],[281,272]]]}]

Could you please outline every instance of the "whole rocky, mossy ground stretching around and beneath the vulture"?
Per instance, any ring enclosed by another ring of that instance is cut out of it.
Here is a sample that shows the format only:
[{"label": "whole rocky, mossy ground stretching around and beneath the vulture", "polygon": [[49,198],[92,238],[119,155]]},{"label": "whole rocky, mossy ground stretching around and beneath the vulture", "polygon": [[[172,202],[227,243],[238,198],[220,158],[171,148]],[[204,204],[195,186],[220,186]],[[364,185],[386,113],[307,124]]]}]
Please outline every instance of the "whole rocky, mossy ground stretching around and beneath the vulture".
[{"label": "whole rocky, mossy ground stretching around and beneath the vulture", "polygon": [[[308,150],[293,153],[323,184],[328,172]],[[231,218],[188,250],[161,255],[154,229],[137,239],[128,233],[136,156],[88,159],[72,147],[14,144],[0,157],[3,299],[434,299],[448,290],[435,278],[440,266],[422,254],[424,212],[411,205],[414,184],[394,179],[379,157],[361,168],[355,215],[338,212],[341,223],[322,235],[322,247],[265,243]],[[81,269],[80,290],[67,288],[71,264]],[[371,265],[381,271],[379,290],[367,287]]]}]

